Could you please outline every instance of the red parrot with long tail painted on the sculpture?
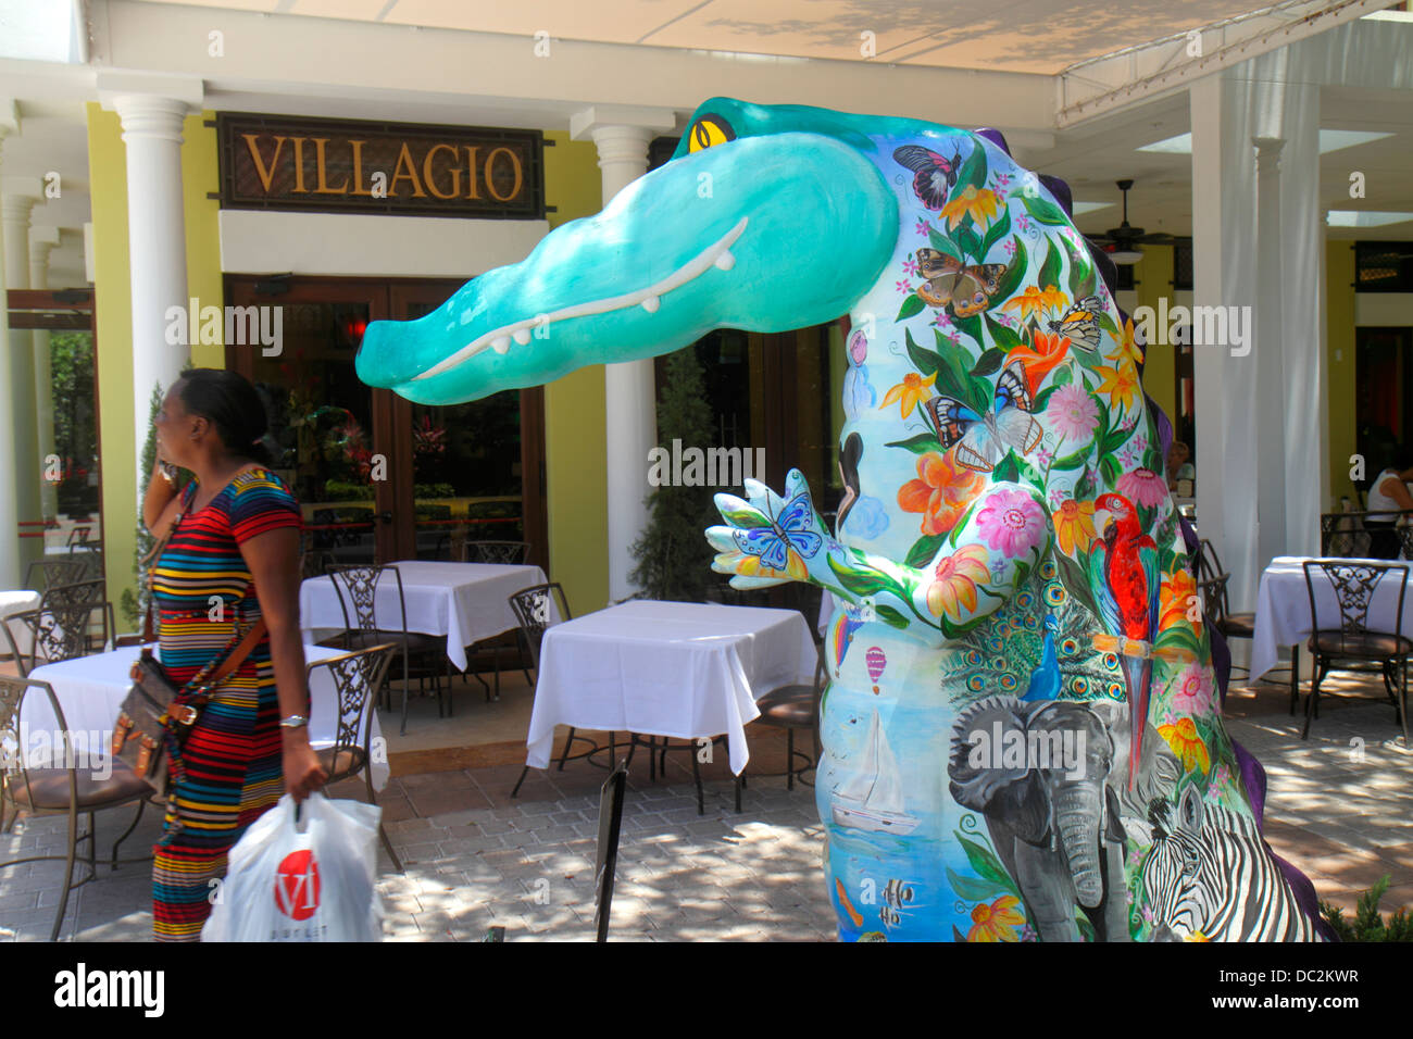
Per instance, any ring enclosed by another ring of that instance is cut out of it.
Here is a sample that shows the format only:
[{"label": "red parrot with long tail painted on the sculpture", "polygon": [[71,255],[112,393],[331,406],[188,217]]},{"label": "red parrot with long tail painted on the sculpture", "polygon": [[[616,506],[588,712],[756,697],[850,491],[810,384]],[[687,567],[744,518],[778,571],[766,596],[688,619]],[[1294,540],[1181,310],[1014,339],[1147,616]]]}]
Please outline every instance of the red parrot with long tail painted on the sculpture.
[{"label": "red parrot with long tail painted on the sculpture", "polygon": [[[1157,544],[1139,526],[1137,509],[1123,495],[1094,499],[1094,526],[1099,533],[1089,550],[1089,589],[1111,635],[1150,643],[1157,635]],[[1121,647],[1122,649],[1122,647]],[[1119,653],[1129,695],[1129,789],[1137,773],[1147,727],[1149,686],[1153,660]]]}]

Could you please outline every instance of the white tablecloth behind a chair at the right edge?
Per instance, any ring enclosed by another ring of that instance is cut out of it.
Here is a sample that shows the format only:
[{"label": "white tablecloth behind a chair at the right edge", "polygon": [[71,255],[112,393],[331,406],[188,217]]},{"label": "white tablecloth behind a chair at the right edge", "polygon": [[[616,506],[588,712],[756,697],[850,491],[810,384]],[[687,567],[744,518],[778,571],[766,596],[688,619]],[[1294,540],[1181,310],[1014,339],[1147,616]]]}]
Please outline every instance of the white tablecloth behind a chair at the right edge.
[{"label": "white tablecloth behind a chair at the right edge", "polygon": [[[1303,556],[1277,556],[1260,575],[1256,592],[1256,630],[1251,647],[1251,674],[1260,677],[1276,666],[1276,650],[1280,646],[1304,646],[1314,630],[1310,618],[1310,594],[1306,591]],[[1395,560],[1338,560],[1340,563],[1372,563],[1389,565]],[[1413,567],[1409,567],[1413,575]],[[1323,571],[1313,574],[1320,618],[1327,626],[1338,625],[1340,604],[1334,588]],[[1397,616],[1399,582],[1385,575],[1373,589],[1369,604],[1369,630],[1390,632]],[[1330,621],[1325,621],[1330,618]],[[1413,594],[1403,602],[1403,635],[1413,638]]]}]

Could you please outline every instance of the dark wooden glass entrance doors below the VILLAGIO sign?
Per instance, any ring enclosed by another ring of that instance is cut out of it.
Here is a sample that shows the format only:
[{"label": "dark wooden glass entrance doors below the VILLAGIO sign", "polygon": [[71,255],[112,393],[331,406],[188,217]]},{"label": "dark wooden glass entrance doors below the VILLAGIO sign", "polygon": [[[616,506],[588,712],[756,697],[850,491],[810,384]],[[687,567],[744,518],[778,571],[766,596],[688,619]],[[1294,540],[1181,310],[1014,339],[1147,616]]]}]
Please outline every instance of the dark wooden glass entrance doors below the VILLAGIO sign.
[{"label": "dark wooden glass entrance doors below the VILLAGIO sign", "polygon": [[462,558],[468,540],[528,541],[527,561],[548,565],[543,389],[430,407],[353,370],[370,321],[422,317],[459,286],[226,277],[230,305],[278,308],[278,346],[227,344],[226,368],[266,403],[276,468],[304,507],[309,573]]}]

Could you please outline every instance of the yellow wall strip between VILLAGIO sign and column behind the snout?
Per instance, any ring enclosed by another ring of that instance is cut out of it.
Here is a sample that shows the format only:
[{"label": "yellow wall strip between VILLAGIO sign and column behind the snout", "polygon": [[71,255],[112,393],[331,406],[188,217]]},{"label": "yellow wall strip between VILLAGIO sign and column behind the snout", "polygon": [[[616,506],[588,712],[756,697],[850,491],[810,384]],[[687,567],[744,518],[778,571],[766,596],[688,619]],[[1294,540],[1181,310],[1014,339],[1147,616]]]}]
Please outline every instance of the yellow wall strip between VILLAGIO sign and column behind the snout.
[{"label": "yellow wall strip between VILLAGIO sign and column behind the snout", "polygon": [[[544,194],[558,228],[603,208],[598,148],[545,131]],[[545,485],[550,513],[550,580],[560,581],[575,614],[609,602],[608,445],[603,365],[581,368],[544,387]]]}]

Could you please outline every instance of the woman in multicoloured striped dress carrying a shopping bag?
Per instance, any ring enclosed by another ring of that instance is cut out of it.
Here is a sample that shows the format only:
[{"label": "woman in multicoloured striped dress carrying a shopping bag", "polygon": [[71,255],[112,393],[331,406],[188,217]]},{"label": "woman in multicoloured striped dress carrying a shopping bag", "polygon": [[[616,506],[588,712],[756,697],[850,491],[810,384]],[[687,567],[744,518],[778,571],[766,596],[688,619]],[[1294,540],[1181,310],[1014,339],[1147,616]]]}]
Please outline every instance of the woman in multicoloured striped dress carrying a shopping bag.
[{"label": "woman in multicoloured striped dress carrying a shopping bag", "polygon": [[[235,372],[187,372],[157,416],[143,522],[158,539],[175,523],[153,564],[162,666],[181,686],[261,616],[268,628],[216,688],[182,746],[184,775],[172,782],[164,834],[153,848],[158,940],[198,940],[212,882],[244,828],[281,792],[304,800],[328,777],[308,735],[300,506],[266,468],[264,434],[264,406]],[[195,476],[182,493],[175,466]]]}]

